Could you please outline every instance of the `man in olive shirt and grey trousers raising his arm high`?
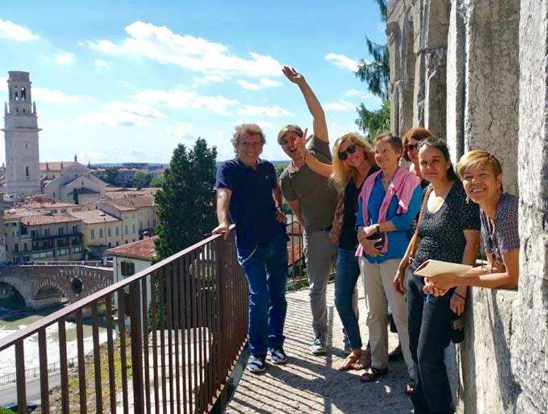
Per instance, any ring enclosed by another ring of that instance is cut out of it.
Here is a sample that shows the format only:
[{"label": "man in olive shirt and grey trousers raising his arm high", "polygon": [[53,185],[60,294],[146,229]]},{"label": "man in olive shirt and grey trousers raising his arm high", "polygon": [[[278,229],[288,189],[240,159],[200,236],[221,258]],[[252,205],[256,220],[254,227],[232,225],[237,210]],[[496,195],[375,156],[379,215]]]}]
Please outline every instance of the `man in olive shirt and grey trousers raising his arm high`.
[{"label": "man in olive shirt and grey trousers raising his arm high", "polygon": [[[299,86],[312,114],[314,136],[310,142],[310,154],[326,164],[331,164],[327,122],[320,102],[301,73],[288,66],[284,66],[283,71],[292,83]],[[282,172],[279,180],[284,198],[305,228],[305,261],[314,330],[314,341],[310,350],[313,354],[323,354],[327,350],[325,292],[329,270],[337,255],[336,246],[329,242],[329,230],[332,227],[338,195],[326,177],[306,166],[295,146],[295,140],[302,136],[303,130],[297,125],[286,125],[279,131],[278,144],[291,158],[291,163]]]}]

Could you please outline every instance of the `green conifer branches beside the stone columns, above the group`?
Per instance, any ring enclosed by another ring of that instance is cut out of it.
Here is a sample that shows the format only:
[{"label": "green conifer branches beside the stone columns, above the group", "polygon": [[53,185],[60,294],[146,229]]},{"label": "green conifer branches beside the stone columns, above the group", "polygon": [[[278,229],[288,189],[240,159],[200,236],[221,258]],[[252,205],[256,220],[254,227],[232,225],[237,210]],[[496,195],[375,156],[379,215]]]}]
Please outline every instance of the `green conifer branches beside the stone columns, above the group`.
[{"label": "green conifer branches beside the stone columns, above the group", "polygon": [[[388,1],[375,0],[375,3],[377,3],[379,8],[382,21],[386,23],[386,6],[388,5]],[[371,140],[380,131],[390,129],[390,94],[388,92],[390,84],[390,60],[386,43],[375,43],[366,36],[365,44],[367,52],[373,59],[371,62],[364,59],[360,60],[356,77],[366,83],[369,92],[382,99],[382,107],[371,111],[363,103],[360,104],[360,107],[356,108],[358,112],[356,125]]]}]

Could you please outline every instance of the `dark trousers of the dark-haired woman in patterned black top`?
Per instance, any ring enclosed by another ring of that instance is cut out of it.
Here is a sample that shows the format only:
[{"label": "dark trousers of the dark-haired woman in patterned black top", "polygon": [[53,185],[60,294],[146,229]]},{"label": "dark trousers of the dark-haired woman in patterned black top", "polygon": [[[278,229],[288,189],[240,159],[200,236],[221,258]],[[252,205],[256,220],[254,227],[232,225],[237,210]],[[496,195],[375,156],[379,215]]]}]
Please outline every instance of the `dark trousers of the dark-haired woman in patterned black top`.
[{"label": "dark trousers of the dark-haired woman in patterned black top", "polygon": [[431,295],[426,302],[422,279],[408,274],[409,348],[416,373],[411,400],[415,413],[455,412],[444,362],[445,348],[451,341],[453,311],[449,301],[453,290],[437,298]]}]

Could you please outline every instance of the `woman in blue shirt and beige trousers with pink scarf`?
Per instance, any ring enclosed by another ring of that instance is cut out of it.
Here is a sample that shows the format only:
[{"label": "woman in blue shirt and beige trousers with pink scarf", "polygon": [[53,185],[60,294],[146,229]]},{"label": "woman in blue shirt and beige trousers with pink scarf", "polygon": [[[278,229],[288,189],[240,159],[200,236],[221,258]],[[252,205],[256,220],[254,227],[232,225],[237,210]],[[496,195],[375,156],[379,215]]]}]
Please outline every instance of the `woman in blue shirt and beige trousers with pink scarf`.
[{"label": "woman in blue shirt and beige trousers with pink scarf", "polygon": [[371,366],[362,375],[362,381],[374,381],[388,373],[388,305],[397,326],[408,374],[414,379],[406,302],[403,296],[395,294],[393,279],[412,236],[412,223],[421,209],[423,190],[419,177],[399,166],[403,144],[397,135],[383,133],[377,136],[373,152],[380,170],[364,182],[356,218],[360,242],[356,256],[360,257],[369,309],[367,326],[371,335]]}]

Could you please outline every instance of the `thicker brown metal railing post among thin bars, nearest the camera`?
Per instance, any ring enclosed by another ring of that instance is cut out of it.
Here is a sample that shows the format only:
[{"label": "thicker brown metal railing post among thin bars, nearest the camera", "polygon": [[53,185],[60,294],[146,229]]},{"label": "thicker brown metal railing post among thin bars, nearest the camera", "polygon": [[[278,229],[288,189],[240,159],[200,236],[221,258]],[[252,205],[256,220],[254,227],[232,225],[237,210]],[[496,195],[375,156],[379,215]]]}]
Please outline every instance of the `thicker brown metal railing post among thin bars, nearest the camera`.
[{"label": "thicker brown metal railing post among thin bars, nearest the camera", "polygon": [[[132,339],[132,376],[133,376],[133,395],[134,412],[144,414],[145,399],[143,398],[144,389],[142,381],[142,346],[141,346],[141,312],[143,306],[140,303],[139,283],[129,285],[129,318],[131,319],[131,332],[129,336]],[[147,390],[149,392],[149,390]]]}]

